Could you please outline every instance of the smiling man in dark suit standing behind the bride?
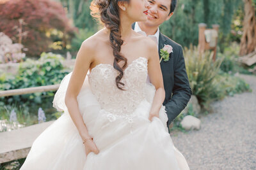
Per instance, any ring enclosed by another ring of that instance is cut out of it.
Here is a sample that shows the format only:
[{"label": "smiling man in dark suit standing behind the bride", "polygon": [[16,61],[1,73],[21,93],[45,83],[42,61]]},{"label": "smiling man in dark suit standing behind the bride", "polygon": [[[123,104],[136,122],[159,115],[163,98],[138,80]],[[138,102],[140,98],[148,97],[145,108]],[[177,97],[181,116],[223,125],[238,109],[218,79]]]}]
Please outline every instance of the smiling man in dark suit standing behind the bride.
[{"label": "smiling man in dark suit standing behind the bride", "polygon": [[164,45],[172,46],[169,60],[164,61],[162,59],[160,63],[165,90],[163,105],[168,115],[167,127],[169,127],[173,119],[184,110],[192,94],[186,73],[182,46],[159,31],[159,25],[172,17],[177,0],[148,0],[148,3],[147,21],[132,24],[132,29],[141,34],[147,34],[147,36],[156,41],[159,59],[161,58],[160,50]]}]

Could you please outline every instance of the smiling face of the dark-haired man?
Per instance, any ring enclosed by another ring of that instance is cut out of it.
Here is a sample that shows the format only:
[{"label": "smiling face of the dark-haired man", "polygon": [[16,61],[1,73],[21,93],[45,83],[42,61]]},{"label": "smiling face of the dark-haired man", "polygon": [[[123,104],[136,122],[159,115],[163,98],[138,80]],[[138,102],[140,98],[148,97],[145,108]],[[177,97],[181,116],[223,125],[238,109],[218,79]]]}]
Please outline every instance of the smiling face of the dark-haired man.
[{"label": "smiling face of the dark-haired man", "polygon": [[170,13],[172,0],[148,0],[148,16],[145,25],[158,27],[164,21],[169,20],[173,13]]}]

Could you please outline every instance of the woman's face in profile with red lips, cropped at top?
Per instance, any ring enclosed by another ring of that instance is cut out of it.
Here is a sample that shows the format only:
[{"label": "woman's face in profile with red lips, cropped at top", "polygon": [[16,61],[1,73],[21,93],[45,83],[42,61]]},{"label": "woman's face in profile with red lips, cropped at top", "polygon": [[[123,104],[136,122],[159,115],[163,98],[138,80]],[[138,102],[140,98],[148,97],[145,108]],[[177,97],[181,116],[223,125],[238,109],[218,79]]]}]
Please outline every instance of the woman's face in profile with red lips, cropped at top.
[{"label": "woman's face in profile with red lips, cropped at top", "polygon": [[133,22],[147,20],[148,6],[147,0],[130,0],[126,9],[127,17]]}]

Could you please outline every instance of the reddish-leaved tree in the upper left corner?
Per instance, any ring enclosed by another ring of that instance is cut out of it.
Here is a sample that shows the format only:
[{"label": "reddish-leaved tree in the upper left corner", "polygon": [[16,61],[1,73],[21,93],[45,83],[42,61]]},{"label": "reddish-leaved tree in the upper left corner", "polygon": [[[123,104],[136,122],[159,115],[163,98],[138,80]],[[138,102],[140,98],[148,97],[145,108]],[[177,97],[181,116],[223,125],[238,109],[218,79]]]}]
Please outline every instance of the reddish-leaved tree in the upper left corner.
[{"label": "reddish-leaved tree in the upper left corner", "polygon": [[[12,0],[0,3],[0,20],[0,32],[28,48],[26,54],[33,57],[49,52],[49,46],[58,38],[63,41],[65,48],[74,34],[74,27],[70,25],[64,8],[51,0]],[[52,33],[56,30],[61,31],[58,38]]]}]

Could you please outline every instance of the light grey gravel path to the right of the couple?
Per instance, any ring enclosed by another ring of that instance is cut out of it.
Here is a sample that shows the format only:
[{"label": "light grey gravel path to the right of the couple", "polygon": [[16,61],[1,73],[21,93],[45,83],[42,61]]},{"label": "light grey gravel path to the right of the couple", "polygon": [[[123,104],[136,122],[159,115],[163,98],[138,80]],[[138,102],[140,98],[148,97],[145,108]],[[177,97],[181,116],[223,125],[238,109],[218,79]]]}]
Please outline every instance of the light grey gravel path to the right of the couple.
[{"label": "light grey gravel path to the right of the couple", "polygon": [[212,103],[200,131],[171,134],[191,170],[256,169],[256,76],[239,76],[252,92]]}]

